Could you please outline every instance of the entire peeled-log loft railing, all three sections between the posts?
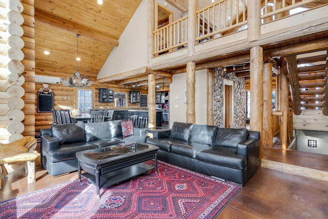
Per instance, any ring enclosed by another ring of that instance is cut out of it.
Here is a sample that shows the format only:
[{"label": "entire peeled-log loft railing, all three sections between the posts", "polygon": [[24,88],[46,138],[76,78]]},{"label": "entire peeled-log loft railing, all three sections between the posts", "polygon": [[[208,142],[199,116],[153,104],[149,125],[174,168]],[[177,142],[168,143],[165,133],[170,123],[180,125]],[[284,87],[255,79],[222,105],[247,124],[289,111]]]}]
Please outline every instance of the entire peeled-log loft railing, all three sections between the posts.
[{"label": "entire peeled-log loft railing, all three sections between the posts", "polygon": [[[204,39],[213,39],[222,33],[233,33],[247,25],[247,4],[247,0],[219,0],[196,11],[195,42],[201,43]],[[310,9],[324,5],[327,5],[325,1],[318,0],[264,0],[262,12],[259,13],[265,23],[288,16],[288,11],[298,7]],[[188,44],[188,16],[153,31],[153,36],[154,55],[183,48]]]}]

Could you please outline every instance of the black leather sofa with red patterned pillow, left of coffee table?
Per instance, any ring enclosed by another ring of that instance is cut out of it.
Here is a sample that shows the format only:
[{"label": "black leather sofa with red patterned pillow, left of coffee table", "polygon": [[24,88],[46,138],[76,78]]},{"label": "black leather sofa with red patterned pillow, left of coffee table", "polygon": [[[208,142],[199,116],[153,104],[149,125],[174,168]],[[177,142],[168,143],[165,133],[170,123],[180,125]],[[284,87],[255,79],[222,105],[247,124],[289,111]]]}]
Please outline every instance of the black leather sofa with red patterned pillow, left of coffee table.
[{"label": "black leather sofa with red patterned pillow, left of coffee table", "polygon": [[40,130],[41,163],[51,176],[77,170],[77,151],[131,142],[146,142],[146,129],[123,137],[121,120],[52,125]]}]

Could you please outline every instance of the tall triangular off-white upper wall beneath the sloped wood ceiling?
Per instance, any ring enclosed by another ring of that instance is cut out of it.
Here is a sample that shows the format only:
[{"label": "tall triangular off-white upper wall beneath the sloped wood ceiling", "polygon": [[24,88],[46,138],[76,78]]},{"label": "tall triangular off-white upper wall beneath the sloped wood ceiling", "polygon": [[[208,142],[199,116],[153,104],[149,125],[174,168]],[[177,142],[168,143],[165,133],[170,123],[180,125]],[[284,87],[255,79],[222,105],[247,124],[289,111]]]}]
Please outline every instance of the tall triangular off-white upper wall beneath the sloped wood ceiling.
[{"label": "tall triangular off-white upper wall beneath the sloped wood ceiling", "polygon": [[126,29],[119,37],[98,78],[147,66],[148,2],[142,0]]}]

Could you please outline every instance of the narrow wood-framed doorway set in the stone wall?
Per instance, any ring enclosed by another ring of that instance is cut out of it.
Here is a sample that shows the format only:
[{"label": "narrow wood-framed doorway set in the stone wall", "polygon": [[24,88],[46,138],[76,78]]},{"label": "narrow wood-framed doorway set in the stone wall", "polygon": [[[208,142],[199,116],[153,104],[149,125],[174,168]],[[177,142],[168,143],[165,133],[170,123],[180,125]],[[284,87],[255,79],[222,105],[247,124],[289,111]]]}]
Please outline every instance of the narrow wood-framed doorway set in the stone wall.
[{"label": "narrow wood-framed doorway set in the stone wall", "polygon": [[233,128],[233,82],[226,80],[224,84],[224,128]]}]

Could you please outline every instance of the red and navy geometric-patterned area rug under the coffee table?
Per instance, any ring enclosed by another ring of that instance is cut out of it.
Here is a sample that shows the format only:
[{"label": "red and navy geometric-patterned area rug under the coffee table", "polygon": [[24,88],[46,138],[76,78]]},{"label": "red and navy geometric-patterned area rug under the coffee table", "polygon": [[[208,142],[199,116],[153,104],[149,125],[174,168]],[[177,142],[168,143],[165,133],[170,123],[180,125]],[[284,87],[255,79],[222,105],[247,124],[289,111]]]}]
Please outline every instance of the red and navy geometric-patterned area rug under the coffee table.
[{"label": "red and navy geometric-patterned area rug under the coffee table", "polygon": [[100,199],[74,180],[1,202],[0,218],[215,218],[240,188],[159,161],[158,174],[101,188]]}]

